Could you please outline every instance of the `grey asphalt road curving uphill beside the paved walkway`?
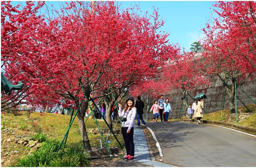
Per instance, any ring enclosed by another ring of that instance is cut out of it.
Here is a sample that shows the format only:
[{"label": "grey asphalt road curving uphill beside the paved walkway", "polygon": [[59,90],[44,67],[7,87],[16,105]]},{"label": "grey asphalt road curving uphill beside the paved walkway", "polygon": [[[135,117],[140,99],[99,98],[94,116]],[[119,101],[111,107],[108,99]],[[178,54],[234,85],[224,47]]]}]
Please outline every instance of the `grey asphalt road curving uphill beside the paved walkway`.
[{"label": "grey asphalt road curving uphill beside the paved walkway", "polygon": [[256,137],[189,122],[147,122],[166,164],[186,167],[254,167]]}]

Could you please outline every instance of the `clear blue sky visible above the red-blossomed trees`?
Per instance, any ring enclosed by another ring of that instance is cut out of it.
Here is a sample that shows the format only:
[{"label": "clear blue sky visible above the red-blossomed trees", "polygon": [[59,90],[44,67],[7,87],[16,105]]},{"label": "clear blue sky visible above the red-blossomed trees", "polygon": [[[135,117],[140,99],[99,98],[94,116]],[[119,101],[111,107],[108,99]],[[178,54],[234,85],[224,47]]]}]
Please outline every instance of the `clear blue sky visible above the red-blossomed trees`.
[{"label": "clear blue sky visible above the red-blossomed trees", "polygon": [[[12,3],[25,5],[25,1]],[[191,44],[198,41],[199,36],[203,37],[201,28],[205,27],[205,23],[212,18],[212,14],[216,17],[211,9],[214,1],[118,1],[117,3],[124,9],[134,4],[139,5],[141,15],[146,11],[150,15],[154,10],[153,6],[158,7],[158,14],[165,21],[160,30],[169,32],[169,42],[179,43],[181,47],[185,47],[185,51],[190,51]],[[50,4],[58,8],[59,2],[51,1]]]}]

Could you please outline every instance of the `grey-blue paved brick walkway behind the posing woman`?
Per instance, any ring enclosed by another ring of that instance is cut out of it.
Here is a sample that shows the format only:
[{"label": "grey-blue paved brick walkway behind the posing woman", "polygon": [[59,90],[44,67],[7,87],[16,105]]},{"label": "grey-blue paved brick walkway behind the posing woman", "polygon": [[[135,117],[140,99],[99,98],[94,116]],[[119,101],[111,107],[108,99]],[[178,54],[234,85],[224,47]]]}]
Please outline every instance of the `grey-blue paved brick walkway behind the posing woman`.
[{"label": "grey-blue paved brick walkway behind the posing woman", "polygon": [[[140,125],[140,127],[144,127],[144,125]],[[144,132],[141,128],[137,128],[137,125],[134,125],[134,134],[133,134],[133,142],[135,145],[135,161],[141,162],[143,164],[148,164],[154,167],[176,167],[170,164],[164,164],[161,162],[154,161],[154,158],[150,158],[148,143]],[[124,155],[125,156],[125,155]]]}]

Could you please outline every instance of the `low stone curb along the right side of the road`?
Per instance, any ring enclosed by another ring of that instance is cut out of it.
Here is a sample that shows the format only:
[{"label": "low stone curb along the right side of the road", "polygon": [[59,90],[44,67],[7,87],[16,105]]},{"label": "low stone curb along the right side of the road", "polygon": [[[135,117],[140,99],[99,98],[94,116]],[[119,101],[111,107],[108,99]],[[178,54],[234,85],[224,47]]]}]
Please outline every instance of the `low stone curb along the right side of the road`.
[{"label": "low stone curb along the right side of the road", "polygon": [[[188,122],[189,120],[186,119],[186,120],[179,120],[179,121]],[[194,119],[193,119],[193,122],[195,122]],[[201,123],[214,124],[214,125],[219,125],[219,126],[223,126],[223,127],[233,128],[233,129],[237,129],[239,131],[243,131],[243,132],[246,132],[246,133],[249,133],[252,135],[256,135],[256,128],[245,127],[245,126],[241,126],[241,125],[237,125],[237,124],[233,124],[233,123],[229,123],[229,122],[201,120]]]}]

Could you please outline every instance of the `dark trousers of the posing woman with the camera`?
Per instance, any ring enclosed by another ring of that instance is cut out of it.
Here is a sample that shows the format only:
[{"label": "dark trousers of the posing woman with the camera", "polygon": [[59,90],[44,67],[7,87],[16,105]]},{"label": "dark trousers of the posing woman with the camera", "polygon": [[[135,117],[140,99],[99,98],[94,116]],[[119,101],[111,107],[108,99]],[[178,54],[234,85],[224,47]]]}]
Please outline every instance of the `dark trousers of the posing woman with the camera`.
[{"label": "dark trousers of the posing woman with the camera", "polygon": [[134,143],[133,143],[133,127],[130,133],[127,134],[128,127],[122,127],[122,134],[124,138],[124,146],[126,150],[126,155],[134,156]]}]

